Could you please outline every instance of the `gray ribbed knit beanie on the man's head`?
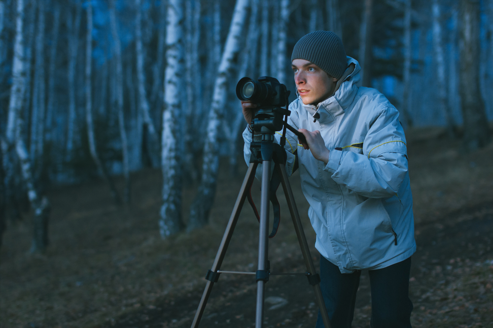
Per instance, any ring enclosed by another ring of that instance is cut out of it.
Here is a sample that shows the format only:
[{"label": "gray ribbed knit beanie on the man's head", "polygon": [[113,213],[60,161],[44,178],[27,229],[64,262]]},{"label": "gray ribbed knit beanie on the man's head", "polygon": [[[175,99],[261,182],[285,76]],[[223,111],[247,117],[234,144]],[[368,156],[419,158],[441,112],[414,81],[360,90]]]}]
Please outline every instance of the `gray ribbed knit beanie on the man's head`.
[{"label": "gray ribbed knit beanie on the man's head", "polygon": [[299,39],[294,45],[291,62],[295,59],[312,62],[338,80],[346,70],[346,51],[342,40],[329,31],[315,31]]}]

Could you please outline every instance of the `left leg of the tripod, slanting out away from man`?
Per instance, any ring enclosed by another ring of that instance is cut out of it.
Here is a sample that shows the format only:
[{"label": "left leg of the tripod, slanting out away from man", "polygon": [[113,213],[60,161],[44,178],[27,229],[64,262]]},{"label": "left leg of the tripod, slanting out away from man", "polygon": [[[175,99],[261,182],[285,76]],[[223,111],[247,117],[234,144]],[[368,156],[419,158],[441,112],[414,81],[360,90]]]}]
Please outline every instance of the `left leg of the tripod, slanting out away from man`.
[{"label": "left leg of the tripod, slanting out away from man", "polygon": [[[226,255],[226,250],[228,248],[229,242],[231,241],[231,237],[233,236],[233,231],[235,230],[236,223],[240,216],[240,212],[243,207],[243,203],[245,202],[246,193],[250,185],[253,182],[255,177],[255,170],[257,168],[256,163],[250,163],[248,166],[248,170],[246,171],[245,179],[243,180],[242,188],[240,189],[240,193],[238,194],[238,198],[236,199],[235,207],[233,208],[233,212],[231,213],[231,217],[229,218],[228,225],[226,230],[224,231],[224,235],[221,240],[221,244],[219,245],[219,249],[217,250],[217,254],[212,264],[211,271],[213,273],[217,273],[220,269],[224,256]],[[207,300],[211,295],[212,286],[214,286],[214,282],[208,280],[206,284],[206,288],[204,289],[204,293],[202,294],[202,298],[200,299],[199,307],[197,308],[197,312],[195,313],[195,318],[192,322],[192,328],[197,328],[200,323],[200,319],[204,314],[204,309],[206,308]]]}]

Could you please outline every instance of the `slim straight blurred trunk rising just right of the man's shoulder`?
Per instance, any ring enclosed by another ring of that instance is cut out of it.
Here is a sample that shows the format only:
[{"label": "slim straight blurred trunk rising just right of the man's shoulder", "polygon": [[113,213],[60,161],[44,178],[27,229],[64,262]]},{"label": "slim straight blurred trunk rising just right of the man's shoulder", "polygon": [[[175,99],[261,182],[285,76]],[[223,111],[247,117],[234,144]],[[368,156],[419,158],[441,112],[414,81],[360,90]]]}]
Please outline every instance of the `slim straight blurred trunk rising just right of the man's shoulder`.
[{"label": "slim straight blurred trunk rising just right of the man's shoulder", "polygon": [[409,113],[410,91],[411,91],[411,0],[405,0],[404,7],[404,71],[402,73],[404,92],[402,95],[402,114],[406,128],[413,126]]}]

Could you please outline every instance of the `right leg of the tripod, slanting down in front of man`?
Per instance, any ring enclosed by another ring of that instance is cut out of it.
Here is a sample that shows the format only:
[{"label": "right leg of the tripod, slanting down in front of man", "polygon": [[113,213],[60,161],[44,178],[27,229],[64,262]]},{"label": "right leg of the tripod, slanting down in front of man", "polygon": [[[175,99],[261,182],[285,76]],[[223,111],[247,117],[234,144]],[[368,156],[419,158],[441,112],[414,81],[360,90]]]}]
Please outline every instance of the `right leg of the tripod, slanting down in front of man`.
[{"label": "right leg of the tripod, slanting down in front of man", "polygon": [[[301,253],[303,254],[303,258],[305,259],[305,265],[307,267],[307,271],[311,275],[315,275],[315,265],[312,261],[312,256],[310,255],[310,249],[308,248],[308,242],[305,236],[305,232],[303,230],[303,226],[301,225],[300,215],[298,209],[296,207],[296,203],[294,202],[293,191],[291,190],[291,186],[289,184],[289,180],[286,174],[286,168],[284,165],[276,164],[276,169],[281,172],[281,183],[282,188],[284,189],[284,195],[286,195],[287,205],[289,207],[289,212],[291,213],[291,217],[293,219],[294,230],[296,231],[296,235],[298,236],[298,241],[301,247]],[[317,298],[318,308],[320,309],[320,313],[322,315],[322,320],[325,328],[330,328],[329,316],[327,314],[327,308],[325,307],[325,302],[323,301],[322,291],[320,290],[320,283],[313,285],[315,291],[315,297]]]}]

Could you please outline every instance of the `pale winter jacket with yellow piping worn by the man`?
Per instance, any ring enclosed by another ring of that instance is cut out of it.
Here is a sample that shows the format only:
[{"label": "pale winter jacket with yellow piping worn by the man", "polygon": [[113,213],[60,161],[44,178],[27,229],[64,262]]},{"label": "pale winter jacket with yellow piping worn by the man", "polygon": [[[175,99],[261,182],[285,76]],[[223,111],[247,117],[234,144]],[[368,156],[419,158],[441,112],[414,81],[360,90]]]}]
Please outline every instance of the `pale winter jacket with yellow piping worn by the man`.
[{"label": "pale winter jacket with yellow piping worn by the man", "polygon": [[[317,106],[305,105],[300,98],[289,105],[288,123],[296,129],[320,131],[330,150],[329,162],[316,160],[290,131],[285,146],[288,174],[298,156],[301,188],[317,233],[315,247],[342,273],[384,268],[416,251],[406,138],[399,113],[377,90],[359,86],[361,68],[348,57],[348,66],[351,63],[354,71],[333,97]],[[314,122],[316,112],[319,118]],[[277,132],[278,142],[280,136]],[[243,137],[248,163],[251,133],[246,129]]]}]

